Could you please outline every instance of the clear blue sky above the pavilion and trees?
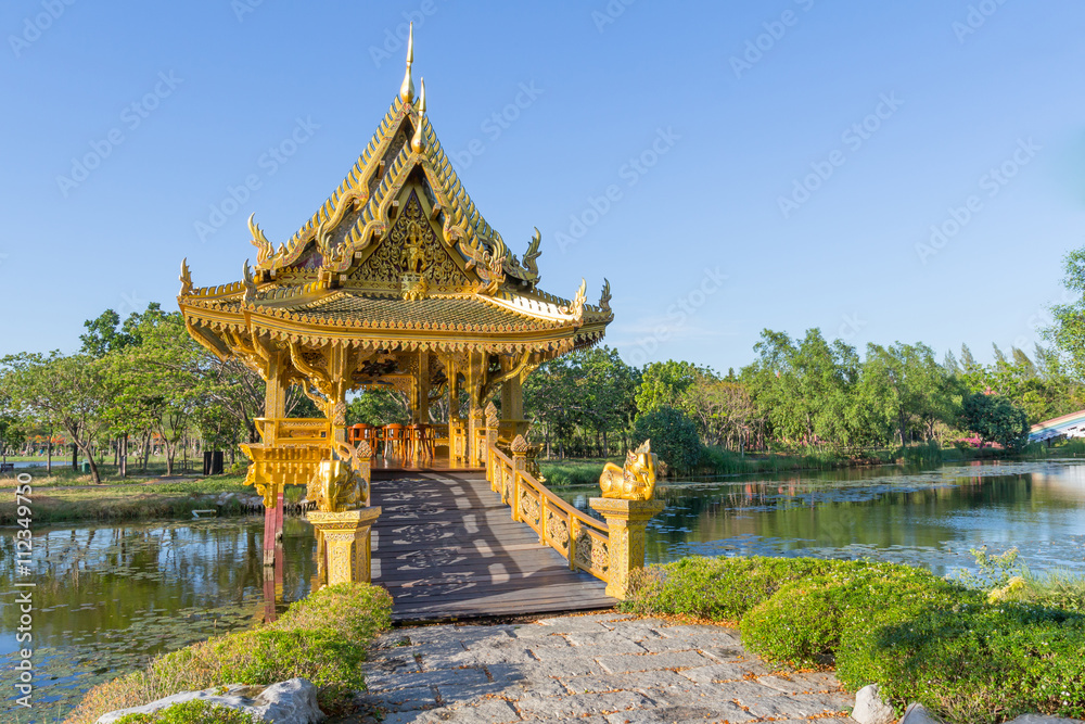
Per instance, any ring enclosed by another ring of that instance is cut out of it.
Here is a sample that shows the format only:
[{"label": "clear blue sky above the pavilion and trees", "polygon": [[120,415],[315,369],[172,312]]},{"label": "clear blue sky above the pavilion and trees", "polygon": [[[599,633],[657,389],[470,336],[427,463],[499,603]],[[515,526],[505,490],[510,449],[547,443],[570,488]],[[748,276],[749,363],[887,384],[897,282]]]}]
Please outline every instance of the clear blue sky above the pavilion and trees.
[{"label": "clear blue sky above the pavilion and trees", "polygon": [[369,141],[410,17],[475,203],[542,231],[547,291],[610,279],[634,364],[740,367],[764,328],[1031,351],[1085,245],[1080,2],[10,0],[0,354],[176,308],[182,257],[239,279],[248,214],[278,245]]}]

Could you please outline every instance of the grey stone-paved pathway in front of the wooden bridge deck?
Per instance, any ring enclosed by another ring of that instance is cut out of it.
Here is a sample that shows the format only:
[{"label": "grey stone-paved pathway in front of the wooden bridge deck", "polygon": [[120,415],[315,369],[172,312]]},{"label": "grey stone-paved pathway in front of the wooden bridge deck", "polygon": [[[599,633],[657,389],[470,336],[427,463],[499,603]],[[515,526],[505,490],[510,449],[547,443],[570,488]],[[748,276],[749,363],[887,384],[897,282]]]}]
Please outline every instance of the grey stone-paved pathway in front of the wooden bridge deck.
[{"label": "grey stone-paved pathway in front of the wooden bridge deck", "polygon": [[831,673],[774,670],[719,626],[600,613],[397,628],[376,646],[353,722],[854,724]]}]

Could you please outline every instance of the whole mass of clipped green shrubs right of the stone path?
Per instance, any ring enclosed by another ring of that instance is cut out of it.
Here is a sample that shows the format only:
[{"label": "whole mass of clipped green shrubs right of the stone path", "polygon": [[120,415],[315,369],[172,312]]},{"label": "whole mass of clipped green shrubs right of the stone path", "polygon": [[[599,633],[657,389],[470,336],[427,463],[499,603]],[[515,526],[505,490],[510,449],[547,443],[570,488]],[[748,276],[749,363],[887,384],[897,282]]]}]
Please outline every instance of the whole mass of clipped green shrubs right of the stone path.
[{"label": "whole mass of clipped green shrubs right of the stone path", "polygon": [[1001,585],[867,561],[686,558],[637,572],[622,607],[738,624],[766,660],[835,666],[853,690],[877,683],[898,714],[919,701],[952,724],[1082,717],[1085,585],[986,570],[971,583]]}]

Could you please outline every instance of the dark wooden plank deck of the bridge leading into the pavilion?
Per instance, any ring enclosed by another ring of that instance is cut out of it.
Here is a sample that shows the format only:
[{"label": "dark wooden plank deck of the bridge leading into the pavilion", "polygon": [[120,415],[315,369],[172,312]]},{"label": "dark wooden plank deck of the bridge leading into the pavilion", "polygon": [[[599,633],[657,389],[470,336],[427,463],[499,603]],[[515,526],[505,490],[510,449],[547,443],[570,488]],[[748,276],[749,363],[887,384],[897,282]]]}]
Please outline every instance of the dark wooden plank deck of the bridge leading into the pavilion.
[{"label": "dark wooden plank deck of the bridge leading into the pavilion", "polygon": [[610,608],[602,581],[569,570],[512,520],[481,472],[374,475],[373,583],[392,618],[429,621]]}]

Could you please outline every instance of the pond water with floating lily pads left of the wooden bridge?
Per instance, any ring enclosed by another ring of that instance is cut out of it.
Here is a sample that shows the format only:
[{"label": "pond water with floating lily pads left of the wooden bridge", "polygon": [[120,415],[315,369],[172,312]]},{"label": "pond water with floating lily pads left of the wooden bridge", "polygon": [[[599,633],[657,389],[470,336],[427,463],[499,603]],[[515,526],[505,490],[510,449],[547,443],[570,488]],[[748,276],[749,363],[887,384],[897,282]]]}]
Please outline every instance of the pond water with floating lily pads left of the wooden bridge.
[{"label": "pond water with floating lily pads left of the wooden bridge", "polygon": [[[38,707],[20,721],[53,721],[88,687],[156,653],[264,620],[263,528],[263,518],[250,517],[35,531],[35,572],[18,580],[37,583]],[[314,547],[307,522],[284,521],[286,564],[270,588],[280,609],[308,593]],[[0,538],[0,656],[9,669],[17,648],[12,536]]]}]

